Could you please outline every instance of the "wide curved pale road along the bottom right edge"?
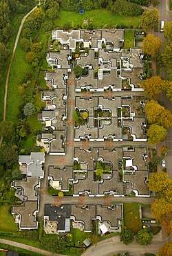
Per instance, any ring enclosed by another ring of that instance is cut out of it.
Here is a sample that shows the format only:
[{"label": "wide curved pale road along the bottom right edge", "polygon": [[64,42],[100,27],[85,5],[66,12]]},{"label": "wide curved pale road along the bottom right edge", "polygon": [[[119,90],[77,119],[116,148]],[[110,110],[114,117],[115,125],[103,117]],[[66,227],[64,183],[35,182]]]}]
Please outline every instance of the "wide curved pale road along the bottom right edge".
[{"label": "wide curved pale road along the bottom right edge", "polygon": [[96,246],[91,246],[83,253],[82,256],[111,256],[113,254],[119,253],[120,251],[127,251],[131,253],[130,255],[140,256],[144,253],[158,253],[158,249],[164,245],[166,241],[171,241],[171,237],[165,241],[160,240],[160,235],[153,238],[153,242],[150,246],[140,246],[133,241],[128,246],[120,242],[120,237],[111,237],[104,241],[100,241]]}]

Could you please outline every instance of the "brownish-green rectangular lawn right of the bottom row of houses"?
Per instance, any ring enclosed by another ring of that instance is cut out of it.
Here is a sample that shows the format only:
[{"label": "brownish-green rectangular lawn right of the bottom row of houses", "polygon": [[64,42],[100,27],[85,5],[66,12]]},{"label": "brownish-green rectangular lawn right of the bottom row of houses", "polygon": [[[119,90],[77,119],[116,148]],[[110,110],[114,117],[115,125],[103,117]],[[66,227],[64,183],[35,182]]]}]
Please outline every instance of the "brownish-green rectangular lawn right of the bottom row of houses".
[{"label": "brownish-green rectangular lawn right of the bottom row of houses", "polygon": [[134,234],[142,228],[140,219],[139,203],[124,203],[124,222]]}]

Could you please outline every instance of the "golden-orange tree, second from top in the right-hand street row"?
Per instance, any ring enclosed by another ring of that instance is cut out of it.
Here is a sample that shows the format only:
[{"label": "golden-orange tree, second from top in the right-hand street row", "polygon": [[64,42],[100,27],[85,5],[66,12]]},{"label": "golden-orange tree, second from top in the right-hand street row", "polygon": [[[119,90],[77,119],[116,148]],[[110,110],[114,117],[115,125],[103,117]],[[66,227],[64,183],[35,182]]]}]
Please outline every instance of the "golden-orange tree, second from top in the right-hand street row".
[{"label": "golden-orange tree, second from top in the right-hand street row", "polygon": [[153,34],[147,34],[143,39],[142,48],[144,53],[155,55],[159,52],[161,44],[161,39],[154,37]]}]

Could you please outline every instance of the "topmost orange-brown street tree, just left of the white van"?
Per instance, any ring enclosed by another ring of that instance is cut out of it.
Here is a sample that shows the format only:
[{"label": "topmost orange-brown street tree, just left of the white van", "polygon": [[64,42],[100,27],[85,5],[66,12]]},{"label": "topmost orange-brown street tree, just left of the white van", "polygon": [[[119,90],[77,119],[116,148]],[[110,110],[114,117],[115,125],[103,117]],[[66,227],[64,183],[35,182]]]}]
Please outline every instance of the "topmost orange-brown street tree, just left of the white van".
[{"label": "topmost orange-brown street tree, just left of the white van", "polygon": [[143,28],[143,30],[148,32],[155,26],[158,26],[159,19],[160,15],[157,9],[144,10],[140,21],[140,26]]}]

